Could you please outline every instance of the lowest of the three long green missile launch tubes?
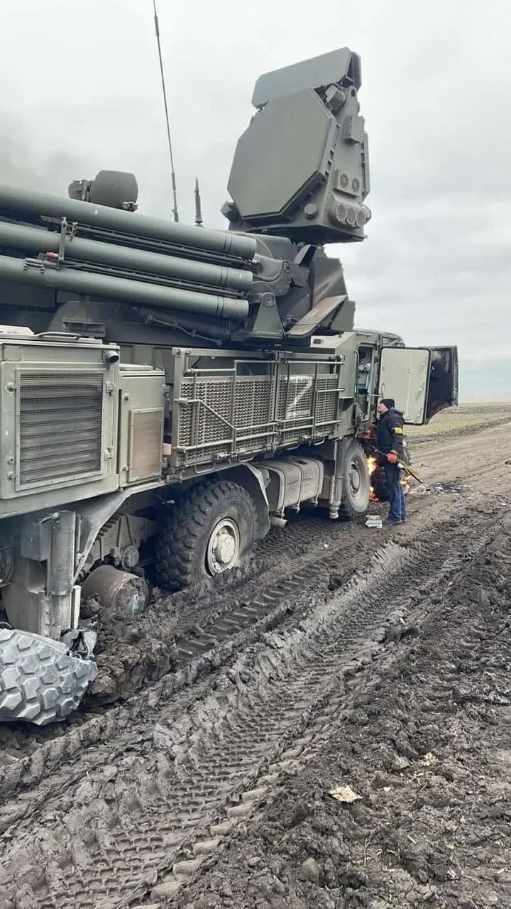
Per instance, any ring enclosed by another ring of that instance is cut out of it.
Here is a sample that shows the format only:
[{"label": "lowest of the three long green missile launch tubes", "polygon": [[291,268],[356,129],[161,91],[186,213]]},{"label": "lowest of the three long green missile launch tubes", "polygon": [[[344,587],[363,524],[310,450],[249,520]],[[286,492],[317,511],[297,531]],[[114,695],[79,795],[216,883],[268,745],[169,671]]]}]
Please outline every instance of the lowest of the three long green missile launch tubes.
[{"label": "lowest of the three long green missile launch tubes", "polygon": [[233,300],[227,296],[202,294],[199,291],[181,290],[178,287],[149,284],[111,275],[95,275],[73,268],[39,267],[25,265],[23,259],[0,255],[0,279],[53,290],[74,291],[96,297],[107,297],[126,303],[177,309],[188,313],[204,313],[216,318],[245,319],[248,315],[247,300]]}]

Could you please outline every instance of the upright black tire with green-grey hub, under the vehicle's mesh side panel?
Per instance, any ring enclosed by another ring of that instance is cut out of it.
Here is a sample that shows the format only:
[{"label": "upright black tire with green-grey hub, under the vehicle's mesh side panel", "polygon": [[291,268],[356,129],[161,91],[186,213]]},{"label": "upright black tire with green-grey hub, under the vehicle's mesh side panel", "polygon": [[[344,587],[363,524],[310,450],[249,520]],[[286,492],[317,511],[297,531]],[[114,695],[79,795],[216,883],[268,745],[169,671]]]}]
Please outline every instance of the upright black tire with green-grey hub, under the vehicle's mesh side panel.
[{"label": "upright black tire with green-grey hub, under the vehicle's mesh side panel", "polygon": [[156,544],[158,581],[168,590],[223,574],[251,554],[255,505],[243,486],[213,480],[194,486],[169,511]]}]

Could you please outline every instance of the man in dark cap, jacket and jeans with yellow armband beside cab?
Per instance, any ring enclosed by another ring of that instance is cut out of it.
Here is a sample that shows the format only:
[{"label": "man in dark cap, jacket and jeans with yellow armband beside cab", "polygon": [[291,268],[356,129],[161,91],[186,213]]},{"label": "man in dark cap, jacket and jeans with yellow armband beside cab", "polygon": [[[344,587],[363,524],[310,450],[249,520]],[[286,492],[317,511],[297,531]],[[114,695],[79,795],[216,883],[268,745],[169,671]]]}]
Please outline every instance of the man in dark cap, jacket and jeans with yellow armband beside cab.
[{"label": "man in dark cap, jacket and jeans with yellow armband beside cab", "polygon": [[378,463],[385,469],[390,502],[386,524],[402,524],[406,521],[406,501],[397,462],[404,456],[403,425],[405,420],[401,411],[396,410],[394,398],[382,398],[377,409],[379,420],[376,430],[376,447],[380,453]]}]

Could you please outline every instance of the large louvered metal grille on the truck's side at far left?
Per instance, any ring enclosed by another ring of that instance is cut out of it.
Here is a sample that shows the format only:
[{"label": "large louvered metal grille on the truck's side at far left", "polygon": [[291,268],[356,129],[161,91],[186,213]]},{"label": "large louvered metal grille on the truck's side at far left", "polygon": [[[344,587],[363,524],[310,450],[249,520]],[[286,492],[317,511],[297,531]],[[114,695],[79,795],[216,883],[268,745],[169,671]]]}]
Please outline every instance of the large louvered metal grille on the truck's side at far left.
[{"label": "large louvered metal grille on the truck's side at far left", "polygon": [[20,485],[101,470],[103,381],[99,371],[20,375]]}]

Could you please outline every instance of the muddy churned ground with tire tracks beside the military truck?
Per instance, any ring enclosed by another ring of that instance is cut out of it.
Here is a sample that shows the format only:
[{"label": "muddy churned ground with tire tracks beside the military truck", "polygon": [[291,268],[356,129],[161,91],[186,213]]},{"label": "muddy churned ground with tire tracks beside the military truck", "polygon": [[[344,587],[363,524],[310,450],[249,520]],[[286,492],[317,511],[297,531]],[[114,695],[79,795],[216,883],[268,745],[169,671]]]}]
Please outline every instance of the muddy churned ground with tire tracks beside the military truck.
[{"label": "muddy churned ground with tire tracks beside the military truck", "polygon": [[105,626],[82,714],[0,730],[0,906],[511,904],[509,437],[415,444],[407,524],[300,515]]}]

